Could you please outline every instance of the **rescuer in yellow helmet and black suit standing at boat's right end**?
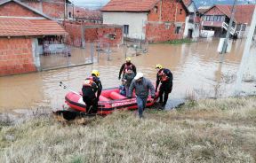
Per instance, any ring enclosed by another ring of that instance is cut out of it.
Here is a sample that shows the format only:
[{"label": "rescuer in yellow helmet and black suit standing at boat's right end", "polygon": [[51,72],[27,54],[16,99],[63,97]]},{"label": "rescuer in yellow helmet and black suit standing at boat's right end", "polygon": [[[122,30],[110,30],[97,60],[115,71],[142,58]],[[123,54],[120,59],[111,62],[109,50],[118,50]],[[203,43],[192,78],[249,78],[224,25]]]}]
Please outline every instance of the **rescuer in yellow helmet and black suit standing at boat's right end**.
[{"label": "rescuer in yellow helmet and black suit standing at boat's right end", "polygon": [[159,103],[162,104],[162,107],[164,107],[167,103],[169,93],[172,92],[172,72],[167,68],[163,68],[163,66],[160,64],[156,65],[156,70],[156,91],[159,83],[161,82],[159,89]]}]

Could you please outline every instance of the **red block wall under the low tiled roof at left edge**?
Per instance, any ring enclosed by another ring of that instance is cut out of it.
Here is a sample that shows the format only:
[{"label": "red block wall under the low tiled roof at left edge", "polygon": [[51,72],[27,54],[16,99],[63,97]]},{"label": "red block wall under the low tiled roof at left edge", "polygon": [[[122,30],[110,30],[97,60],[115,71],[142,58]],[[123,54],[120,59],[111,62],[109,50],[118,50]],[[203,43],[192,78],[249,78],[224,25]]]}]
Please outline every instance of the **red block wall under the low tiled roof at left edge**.
[{"label": "red block wall under the low tiled roof at left edge", "polygon": [[32,39],[0,37],[0,76],[36,72]]}]

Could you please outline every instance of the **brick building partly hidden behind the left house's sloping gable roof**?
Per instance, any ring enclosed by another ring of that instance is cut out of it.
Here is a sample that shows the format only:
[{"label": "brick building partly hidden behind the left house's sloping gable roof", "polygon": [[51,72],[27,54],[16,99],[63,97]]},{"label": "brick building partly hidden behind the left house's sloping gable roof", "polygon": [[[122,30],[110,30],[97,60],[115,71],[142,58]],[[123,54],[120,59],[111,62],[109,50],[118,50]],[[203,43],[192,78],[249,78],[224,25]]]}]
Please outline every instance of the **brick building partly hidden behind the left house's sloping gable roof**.
[{"label": "brick building partly hidden behind the left house's sloping gable roof", "polygon": [[68,7],[72,6],[68,0],[20,0],[20,2],[58,20],[68,19]]}]

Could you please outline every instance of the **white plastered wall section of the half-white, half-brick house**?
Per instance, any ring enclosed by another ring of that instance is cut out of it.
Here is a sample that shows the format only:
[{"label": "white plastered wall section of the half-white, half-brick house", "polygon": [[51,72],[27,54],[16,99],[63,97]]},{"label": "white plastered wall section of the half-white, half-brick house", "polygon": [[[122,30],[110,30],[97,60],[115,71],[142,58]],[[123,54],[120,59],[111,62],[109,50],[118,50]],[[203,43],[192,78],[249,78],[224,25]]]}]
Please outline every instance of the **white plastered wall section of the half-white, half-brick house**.
[{"label": "white plastered wall section of the half-white, half-brick house", "polygon": [[143,27],[147,20],[147,12],[103,12],[103,24],[129,25],[127,36],[134,39],[145,39]]}]

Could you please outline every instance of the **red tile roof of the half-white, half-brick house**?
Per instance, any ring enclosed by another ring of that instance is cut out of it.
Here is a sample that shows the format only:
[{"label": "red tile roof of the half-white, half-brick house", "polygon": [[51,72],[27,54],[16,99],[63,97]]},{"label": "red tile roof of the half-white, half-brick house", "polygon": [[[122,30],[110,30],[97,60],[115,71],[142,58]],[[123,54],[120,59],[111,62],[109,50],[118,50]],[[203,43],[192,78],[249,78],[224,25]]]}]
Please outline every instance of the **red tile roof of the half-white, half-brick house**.
[{"label": "red tile roof of the half-white, half-brick house", "polygon": [[160,0],[111,0],[102,12],[148,12]]}]

